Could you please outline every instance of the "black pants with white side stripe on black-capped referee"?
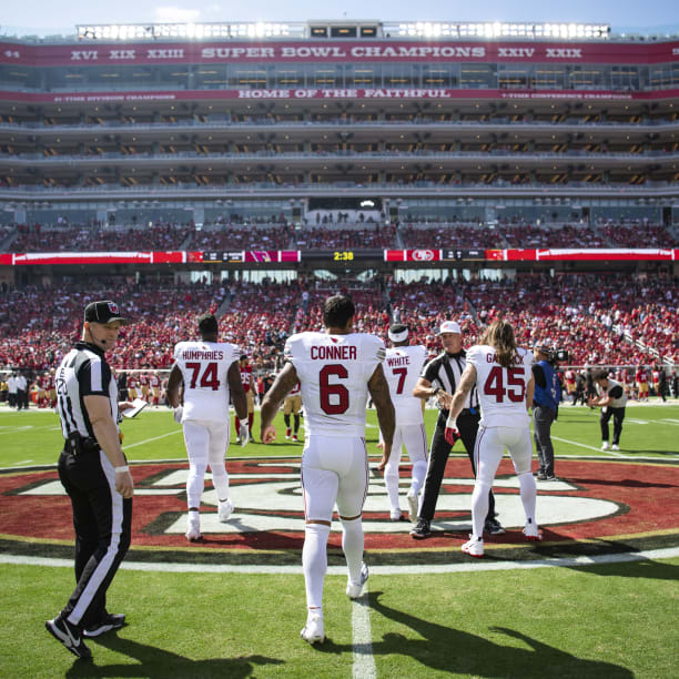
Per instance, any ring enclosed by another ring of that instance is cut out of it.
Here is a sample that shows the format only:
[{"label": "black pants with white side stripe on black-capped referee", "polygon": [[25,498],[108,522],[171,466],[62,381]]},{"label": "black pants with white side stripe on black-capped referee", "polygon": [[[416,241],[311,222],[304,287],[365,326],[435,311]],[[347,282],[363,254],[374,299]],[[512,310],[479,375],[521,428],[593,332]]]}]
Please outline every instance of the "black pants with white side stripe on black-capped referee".
[{"label": "black pants with white side stripe on black-capped referee", "polygon": [[73,507],[77,581],[61,616],[87,628],[107,615],[107,590],[130,547],[132,498],[115,490],[103,450],[78,456],[63,450],[59,478]]}]

